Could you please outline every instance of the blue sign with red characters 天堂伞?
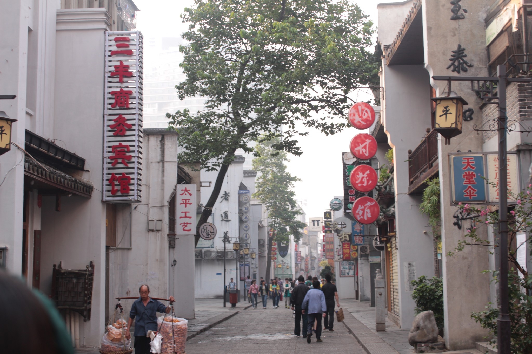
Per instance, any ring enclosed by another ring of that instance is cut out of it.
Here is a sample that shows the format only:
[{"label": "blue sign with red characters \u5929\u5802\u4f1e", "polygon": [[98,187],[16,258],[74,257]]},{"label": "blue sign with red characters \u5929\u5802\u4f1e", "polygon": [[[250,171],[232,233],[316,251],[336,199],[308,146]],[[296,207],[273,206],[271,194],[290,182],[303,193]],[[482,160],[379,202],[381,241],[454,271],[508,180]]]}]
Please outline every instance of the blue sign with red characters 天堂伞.
[{"label": "blue sign with red characters \u5929\u5802\u4f1e", "polygon": [[451,178],[453,202],[483,203],[486,201],[484,155],[452,155]]}]

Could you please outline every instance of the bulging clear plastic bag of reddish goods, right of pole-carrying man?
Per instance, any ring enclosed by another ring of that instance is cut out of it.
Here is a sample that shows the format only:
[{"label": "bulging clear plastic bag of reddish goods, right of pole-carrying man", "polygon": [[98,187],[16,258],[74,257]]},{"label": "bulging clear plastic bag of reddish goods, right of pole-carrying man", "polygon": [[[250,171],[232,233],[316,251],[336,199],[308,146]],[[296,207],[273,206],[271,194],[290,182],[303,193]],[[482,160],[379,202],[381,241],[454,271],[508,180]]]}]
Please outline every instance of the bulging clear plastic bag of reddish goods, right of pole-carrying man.
[{"label": "bulging clear plastic bag of reddish goods, right of pole-carrying man", "polygon": [[162,335],[161,354],[183,354],[187,342],[188,321],[175,315],[157,318],[157,329]]}]

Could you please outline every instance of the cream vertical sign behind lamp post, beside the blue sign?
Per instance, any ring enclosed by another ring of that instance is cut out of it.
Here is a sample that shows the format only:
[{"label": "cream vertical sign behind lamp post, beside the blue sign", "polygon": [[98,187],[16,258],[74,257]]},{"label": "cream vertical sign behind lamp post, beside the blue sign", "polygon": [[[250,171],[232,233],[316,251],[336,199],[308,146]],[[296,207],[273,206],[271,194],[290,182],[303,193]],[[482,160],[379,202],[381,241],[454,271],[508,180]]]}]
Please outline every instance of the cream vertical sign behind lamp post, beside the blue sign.
[{"label": "cream vertical sign behind lamp post, beside the blue sign", "polygon": [[[488,201],[489,202],[498,202],[499,201],[499,163],[498,163],[498,154],[487,154],[487,168],[488,168],[488,182],[496,183],[497,186],[488,185]],[[517,169],[517,154],[509,153],[506,155],[506,166],[508,171],[508,193],[512,192],[514,194],[519,193],[519,171]],[[516,201],[515,198],[508,198],[508,201]]]}]

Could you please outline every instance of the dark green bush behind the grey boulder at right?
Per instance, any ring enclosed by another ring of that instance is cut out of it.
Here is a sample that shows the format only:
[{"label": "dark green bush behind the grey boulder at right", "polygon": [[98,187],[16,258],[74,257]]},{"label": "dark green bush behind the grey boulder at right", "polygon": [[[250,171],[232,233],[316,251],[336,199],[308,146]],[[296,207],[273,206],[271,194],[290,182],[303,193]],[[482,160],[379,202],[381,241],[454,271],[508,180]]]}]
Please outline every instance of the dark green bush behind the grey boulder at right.
[{"label": "dark green bush behind the grey boulder at right", "polygon": [[411,281],[414,291],[412,299],[415,301],[415,312],[419,314],[423,311],[434,312],[436,324],[439,329],[443,329],[443,281],[442,278],[433,277],[427,279],[422,275],[418,280]]}]

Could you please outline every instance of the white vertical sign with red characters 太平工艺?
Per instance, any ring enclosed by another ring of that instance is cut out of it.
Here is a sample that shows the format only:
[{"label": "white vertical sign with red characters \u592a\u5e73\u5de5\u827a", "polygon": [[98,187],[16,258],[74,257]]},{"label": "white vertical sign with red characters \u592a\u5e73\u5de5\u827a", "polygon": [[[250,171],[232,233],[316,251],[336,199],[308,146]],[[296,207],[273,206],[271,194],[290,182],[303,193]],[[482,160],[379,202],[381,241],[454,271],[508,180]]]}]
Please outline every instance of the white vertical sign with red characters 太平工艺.
[{"label": "white vertical sign with red characters \u592a\u5e73\u5de5\u827a", "polygon": [[176,234],[196,234],[196,185],[178,184],[176,191]]}]

